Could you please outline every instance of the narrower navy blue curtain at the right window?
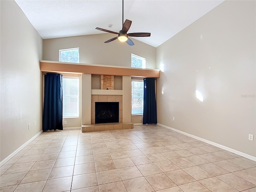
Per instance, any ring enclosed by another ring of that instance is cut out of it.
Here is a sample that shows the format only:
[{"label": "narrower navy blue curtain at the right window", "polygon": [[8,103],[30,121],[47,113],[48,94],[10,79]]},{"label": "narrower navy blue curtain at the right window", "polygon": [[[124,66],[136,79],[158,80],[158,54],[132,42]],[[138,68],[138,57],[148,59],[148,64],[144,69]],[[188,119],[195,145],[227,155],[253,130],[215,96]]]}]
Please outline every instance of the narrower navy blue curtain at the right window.
[{"label": "narrower navy blue curtain at the right window", "polygon": [[143,124],[157,124],[155,78],[144,78]]}]

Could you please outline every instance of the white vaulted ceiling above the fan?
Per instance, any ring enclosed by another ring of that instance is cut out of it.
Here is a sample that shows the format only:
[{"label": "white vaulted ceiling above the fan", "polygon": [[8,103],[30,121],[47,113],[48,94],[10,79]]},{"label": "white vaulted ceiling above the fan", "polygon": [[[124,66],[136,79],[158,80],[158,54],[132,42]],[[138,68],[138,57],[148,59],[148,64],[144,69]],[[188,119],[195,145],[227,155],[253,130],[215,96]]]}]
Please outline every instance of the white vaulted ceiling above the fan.
[{"label": "white vaulted ceiling above the fan", "polygon": [[[157,47],[223,1],[124,0],[124,20],[132,20],[128,33],[150,32],[150,37],[136,39]],[[43,39],[105,33],[96,27],[115,32],[122,29],[122,0],[16,2]],[[112,28],[108,24],[113,24]]]}]

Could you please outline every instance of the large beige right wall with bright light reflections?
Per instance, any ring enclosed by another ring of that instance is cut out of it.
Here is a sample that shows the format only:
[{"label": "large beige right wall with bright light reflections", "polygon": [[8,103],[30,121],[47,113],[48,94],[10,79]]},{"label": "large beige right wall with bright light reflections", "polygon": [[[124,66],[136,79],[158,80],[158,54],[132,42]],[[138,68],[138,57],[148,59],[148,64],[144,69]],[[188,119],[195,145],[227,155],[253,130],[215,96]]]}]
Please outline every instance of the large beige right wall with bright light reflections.
[{"label": "large beige right wall with bright light reflections", "polygon": [[256,156],[255,3],[225,1],[156,48],[160,124]]}]

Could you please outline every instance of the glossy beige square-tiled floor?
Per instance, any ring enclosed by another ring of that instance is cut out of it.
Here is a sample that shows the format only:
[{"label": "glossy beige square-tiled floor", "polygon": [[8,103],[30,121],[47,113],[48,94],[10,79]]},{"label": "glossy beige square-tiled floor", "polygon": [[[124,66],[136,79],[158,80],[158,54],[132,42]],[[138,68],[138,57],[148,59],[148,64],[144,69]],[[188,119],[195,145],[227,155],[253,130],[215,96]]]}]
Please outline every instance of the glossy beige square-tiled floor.
[{"label": "glossy beige square-tiled floor", "polygon": [[155,125],[43,132],[0,173],[1,192],[256,192],[256,162]]}]

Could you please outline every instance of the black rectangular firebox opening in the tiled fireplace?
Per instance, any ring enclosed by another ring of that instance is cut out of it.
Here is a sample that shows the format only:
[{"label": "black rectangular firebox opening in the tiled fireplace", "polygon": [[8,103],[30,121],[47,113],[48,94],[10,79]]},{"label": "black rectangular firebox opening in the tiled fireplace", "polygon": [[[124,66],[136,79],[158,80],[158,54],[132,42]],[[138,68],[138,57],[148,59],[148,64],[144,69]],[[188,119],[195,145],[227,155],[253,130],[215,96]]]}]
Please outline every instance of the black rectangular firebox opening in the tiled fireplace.
[{"label": "black rectangular firebox opening in the tiled fireplace", "polygon": [[119,102],[95,102],[95,124],[118,122]]}]

